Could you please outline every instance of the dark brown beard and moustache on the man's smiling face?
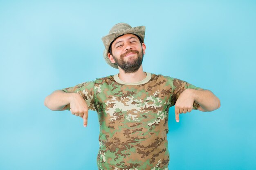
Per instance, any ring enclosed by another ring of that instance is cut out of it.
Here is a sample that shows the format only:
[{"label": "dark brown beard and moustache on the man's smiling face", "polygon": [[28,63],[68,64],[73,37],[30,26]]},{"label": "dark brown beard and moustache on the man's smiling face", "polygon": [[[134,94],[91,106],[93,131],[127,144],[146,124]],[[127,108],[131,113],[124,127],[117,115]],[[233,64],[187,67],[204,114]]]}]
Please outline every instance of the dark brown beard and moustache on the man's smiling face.
[{"label": "dark brown beard and moustache on the man's smiling face", "polygon": [[[130,53],[130,52],[136,53],[138,57],[133,59],[133,60],[130,60],[130,58],[128,58],[128,61],[124,61],[124,56],[126,54]],[[143,57],[144,57],[143,52],[142,51],[139,52],[137,50],[128,50],[128,51],[126,51],[126,53],[120,55],[119,60],[117,60],[117,58],[113,55],[113,59],[115,60],[117,65],[124,70],[125,73],[134,73],[134,72],[136,72],[142,64]]]}]

